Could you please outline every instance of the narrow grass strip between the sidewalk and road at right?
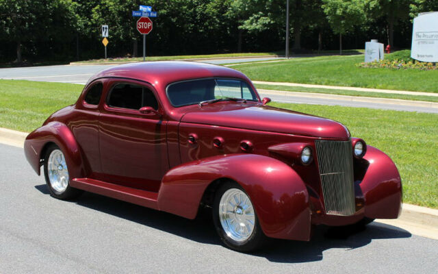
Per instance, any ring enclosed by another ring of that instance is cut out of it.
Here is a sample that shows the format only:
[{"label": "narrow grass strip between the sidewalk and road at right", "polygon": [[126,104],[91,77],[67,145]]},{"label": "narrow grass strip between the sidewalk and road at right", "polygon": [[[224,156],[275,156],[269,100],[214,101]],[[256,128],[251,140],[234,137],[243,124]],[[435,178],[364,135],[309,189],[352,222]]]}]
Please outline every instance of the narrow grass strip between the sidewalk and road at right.
[{"label": "narrow grass strip between the sidewalk and road at right", "polygon": [[277,85],[266,85],[266,84],[255,84],[255,86],[257,89],[265,89],[265,90],[313,92],[313,93],[324,93],[324,94],[332,94],[332,95],[349,95],[349,96],[359,96],[359,97],[377,97],[377,98],[404,99],[404,100],[413,100],[413,101],[438,102],[438,97],[423,96],[423,95],[399,95],[394,93],[382,93],[382,92],[331,90],[327,88],[303,88],[299,86],[277,86]]}]

